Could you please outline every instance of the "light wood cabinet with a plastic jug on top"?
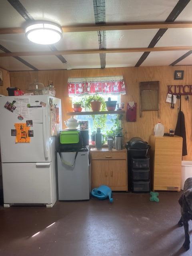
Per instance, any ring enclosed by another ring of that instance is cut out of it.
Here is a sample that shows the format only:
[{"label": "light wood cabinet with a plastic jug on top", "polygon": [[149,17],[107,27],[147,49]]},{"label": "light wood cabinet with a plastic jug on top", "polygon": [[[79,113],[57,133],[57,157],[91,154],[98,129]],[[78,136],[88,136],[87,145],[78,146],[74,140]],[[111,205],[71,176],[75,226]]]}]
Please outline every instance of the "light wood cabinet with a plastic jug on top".
[{"label": "light wood cabinet with a plastic jug on top", "polygon": [[182,137],[150,136],[153,190],[181,188]]}]

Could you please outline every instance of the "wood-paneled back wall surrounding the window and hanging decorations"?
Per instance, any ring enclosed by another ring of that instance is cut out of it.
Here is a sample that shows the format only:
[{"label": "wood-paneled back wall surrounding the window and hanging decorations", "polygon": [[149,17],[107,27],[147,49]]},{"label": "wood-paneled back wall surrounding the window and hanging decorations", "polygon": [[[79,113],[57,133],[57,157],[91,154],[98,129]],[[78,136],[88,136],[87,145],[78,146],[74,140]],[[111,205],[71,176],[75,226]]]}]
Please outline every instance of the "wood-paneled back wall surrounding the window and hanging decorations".
[{"label": "wood-paneled back wall surrounding the window and hanging decorations", "polygon": [[[174,80],[174,70],[184,70],[183,80]],[[56,96],[62,99],[62,118],[68,118],[66,112],[70,111],[71,104],[68,98],[67,79],[68,77],[97,77],[97,76],[124,76],[126,84],[126,95],[122,96],[122,102],[137,102],[137,121],[126,122],[123,120],[125,141],[138,136],[148,141],[150,134],[153,134],[154,125],[160,121],[164,124],[165,132],[170,128],[175,128],[178,109],[170,108],[166,103],[167,85],[192,84],[192,66],[159,66],[159,67],[125,67],[125,68],[106,68],[106,69],[82,69],[82,70],[50,70],[50,71],[24,71],[10,72],[11,86],[18,86],[26,90],[27,85],[38,78],[39,82],[47,85],[48,80],[53,80],[56,87]],[[156,111],[142,112],[139,117],[139,82],[160,81],[160,118]],[[182,96],[182,111],[185,115],[186,136],[188,156],[186,160],[192,160],[192,96],[186,102]],[[64,124],[64,123],[63,123]],[[166,150],[166,149],[165,149]]]}]

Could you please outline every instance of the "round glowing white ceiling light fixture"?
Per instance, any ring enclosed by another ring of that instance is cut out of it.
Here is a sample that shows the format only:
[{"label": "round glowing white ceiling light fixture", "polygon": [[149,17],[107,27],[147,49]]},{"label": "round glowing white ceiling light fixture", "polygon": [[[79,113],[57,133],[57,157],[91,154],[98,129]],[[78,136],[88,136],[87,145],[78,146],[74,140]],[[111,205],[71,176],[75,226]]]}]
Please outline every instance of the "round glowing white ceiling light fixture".
[{"label": "round glowing white ceiling light fixture", "polygon": [[36,22],[25,29],[26,38],[36,44],[54,44],[62,38],[62,28],[50,22]]}]

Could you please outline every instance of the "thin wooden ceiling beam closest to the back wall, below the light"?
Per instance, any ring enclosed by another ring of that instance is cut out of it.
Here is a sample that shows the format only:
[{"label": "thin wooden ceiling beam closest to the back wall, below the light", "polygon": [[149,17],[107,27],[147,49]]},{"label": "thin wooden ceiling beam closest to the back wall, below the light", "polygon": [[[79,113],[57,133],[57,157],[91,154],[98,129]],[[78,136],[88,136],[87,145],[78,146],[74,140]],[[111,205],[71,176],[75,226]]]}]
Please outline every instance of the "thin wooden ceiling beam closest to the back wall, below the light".
[{"label": "thin wooden ceiling beam closest to the back wall, below the light", "polygon": [[120,48],[120,49],[92,49],[92,50],[67,50],[67,51],[42,51],[42,52],[4,52],[0,57],[14,56],[48,56],[48,55],[69,55],[69,54],[100,54],[100,53],[124,53],[124,52],[162,52],[162,51],[188,51],[192,46],[168,46],[154,48]]}]

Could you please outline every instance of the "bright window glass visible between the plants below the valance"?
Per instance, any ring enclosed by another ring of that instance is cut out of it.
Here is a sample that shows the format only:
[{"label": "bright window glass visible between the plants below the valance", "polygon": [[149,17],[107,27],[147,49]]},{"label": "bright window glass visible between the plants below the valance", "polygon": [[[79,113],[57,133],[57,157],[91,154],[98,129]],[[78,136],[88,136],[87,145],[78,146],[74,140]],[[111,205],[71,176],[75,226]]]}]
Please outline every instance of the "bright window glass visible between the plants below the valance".
[{"label": "bright window glass visible between the plants below the valance", "polygon": [[[117,103],[121,103],[121,96],[120,95],[101,95],[105,101],[108,100],[108,98],[110,97],[111,100],[116,100]],[[72,96],[70,97],[72,102],[77,102],[80,101],[83,97],[85,96]],[[116,107],[117,109],[117,107]],[[84,109],[82,111],[85,111]],[[98,118],[102,118],[102,115],[97,115]],[[106,115],[106,124],[105,127],[101,127],[101,131],[102,134],[106,134],[107,131],[111,130],[112,126],[114,125],[114,120],[117,117],[116,114],[107,114]],[[92,134],[92,132],[97,130],[97,127],[94,127],[94,122],[93,122],[93,118],[90,115],[76,115],[76,119],[78,119],[79,121],[88,121],[88,125],[89,125],[89,134]]]}]

